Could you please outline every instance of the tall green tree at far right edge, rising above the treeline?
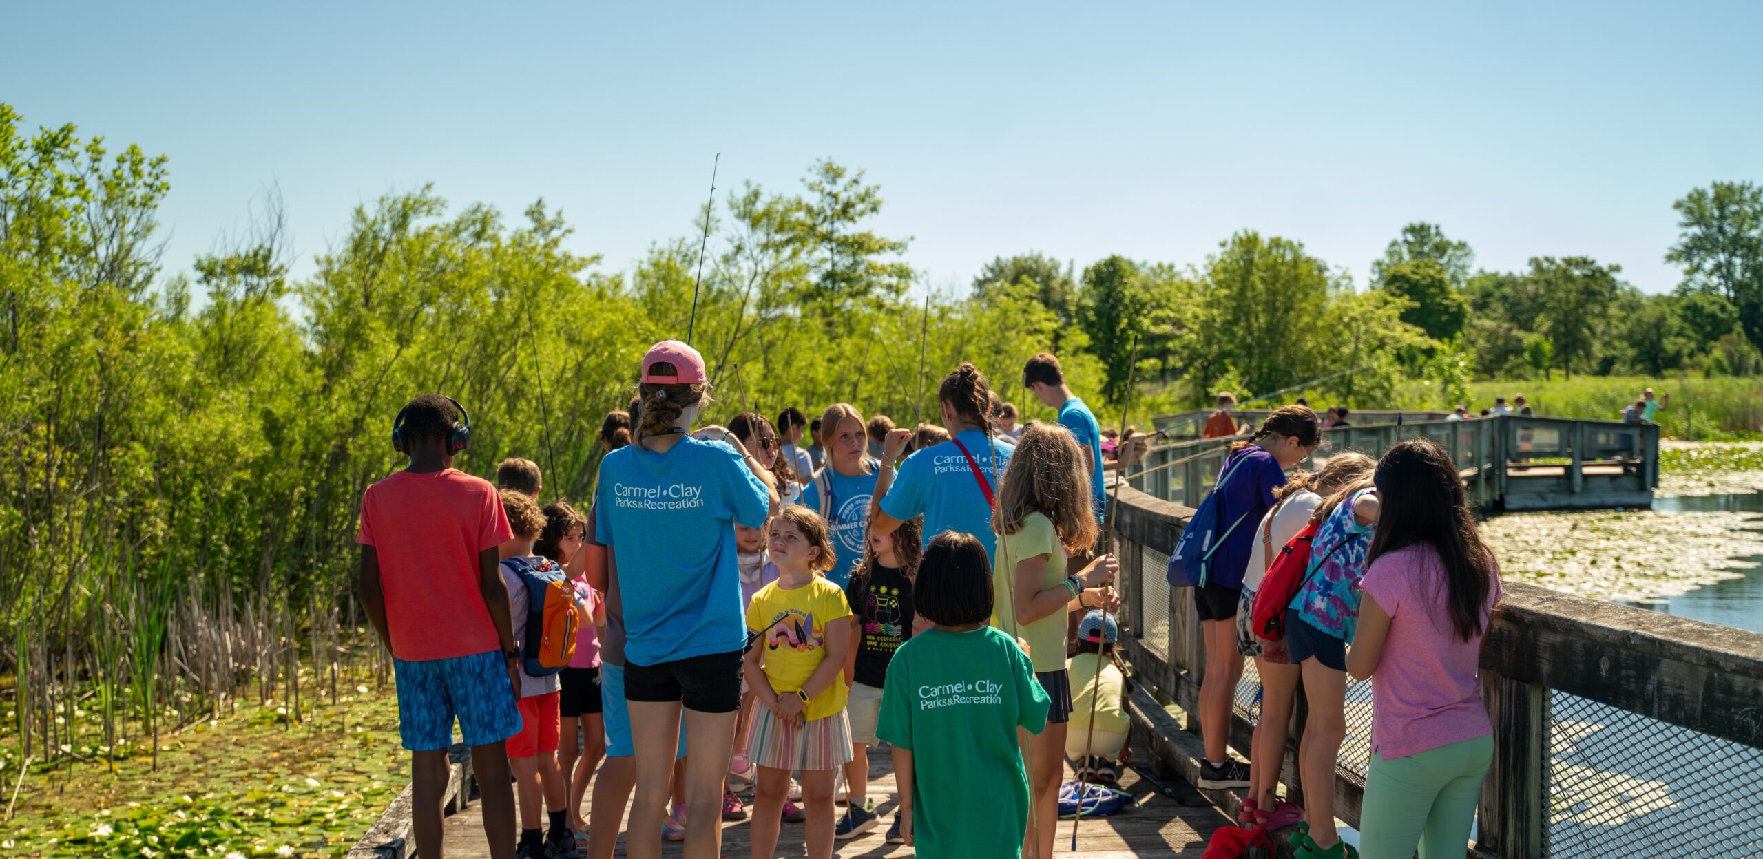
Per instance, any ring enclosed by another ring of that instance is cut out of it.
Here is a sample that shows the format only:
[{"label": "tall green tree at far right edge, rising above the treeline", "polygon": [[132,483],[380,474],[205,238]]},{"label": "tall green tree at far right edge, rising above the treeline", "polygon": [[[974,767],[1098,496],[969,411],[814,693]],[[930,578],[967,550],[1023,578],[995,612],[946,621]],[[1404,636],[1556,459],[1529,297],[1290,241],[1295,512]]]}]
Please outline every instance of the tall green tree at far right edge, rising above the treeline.
[{"label": "tall green tree at far right edge, rising above the treeline", "polygon": [[1671,204],[1678,239],[1666,262],[1684,266],[1684,287],[1733,305],[1751,343],[1763,347],[1763,187],[1715,181]]}]

